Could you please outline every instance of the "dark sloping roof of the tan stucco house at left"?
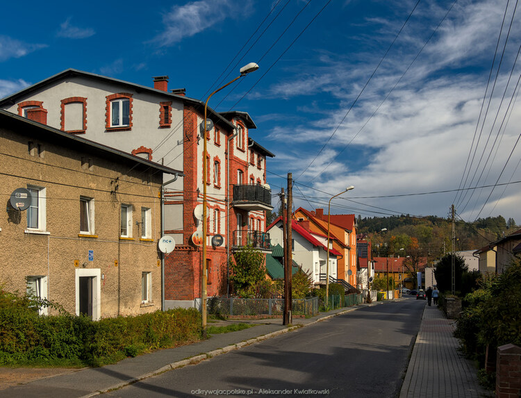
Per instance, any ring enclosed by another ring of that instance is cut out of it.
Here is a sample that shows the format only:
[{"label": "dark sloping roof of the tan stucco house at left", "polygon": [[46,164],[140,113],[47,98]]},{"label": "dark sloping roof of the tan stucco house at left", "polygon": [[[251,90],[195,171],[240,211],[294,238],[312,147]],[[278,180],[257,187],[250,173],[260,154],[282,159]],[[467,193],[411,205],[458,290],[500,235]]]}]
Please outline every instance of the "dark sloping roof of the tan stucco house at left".
[{"label": "dark sloping roof of the tan stucco house at left", "polygon": [[147,167],[157,169],[167,174],[177,174],[179,176],[184,176],[183,172],[180,170],[160,165],[159,163],[140,158],[139,156],[134,156],[128,152],[120,151],[119,149],[107,147],[104,144],[99,144],[99,142],[87,140],[86,138],[83,138],[79,135],[66,133],[65,131],[47,126],[47,124],[34,122],[33,120],[27,119],[26,117],[10,113],[7,110],[0,109],[0,126],[4,128],[12,128],[18,134],[34,133],[42,135],[42,130],[44,130],[45,135],[43,139],[48,142],[56,142],[57,144],[63,146],[73,147],[78,151],[85,150],[88,151],[88,153],[98,154],[102,158],[110,158],[111,160],[114,160],[114,156],[119,156],[120,158],[126,158],[132,162],[141,163],[142,165],[146,165]]}]

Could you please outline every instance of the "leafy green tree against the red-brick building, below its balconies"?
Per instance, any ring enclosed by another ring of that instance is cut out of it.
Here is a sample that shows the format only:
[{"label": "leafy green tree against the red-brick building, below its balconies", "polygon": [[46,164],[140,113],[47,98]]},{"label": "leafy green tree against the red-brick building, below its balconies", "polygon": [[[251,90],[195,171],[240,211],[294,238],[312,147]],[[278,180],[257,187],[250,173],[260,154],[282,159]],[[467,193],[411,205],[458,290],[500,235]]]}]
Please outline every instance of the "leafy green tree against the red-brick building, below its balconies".
[{"label": "leafy green tree against the red-brick building, below its balconies", "polygon": [[230,281],[241,297],[254,297],[256,287],[266,279],[265,259],[251,244],[235,251],[230,257]]}]

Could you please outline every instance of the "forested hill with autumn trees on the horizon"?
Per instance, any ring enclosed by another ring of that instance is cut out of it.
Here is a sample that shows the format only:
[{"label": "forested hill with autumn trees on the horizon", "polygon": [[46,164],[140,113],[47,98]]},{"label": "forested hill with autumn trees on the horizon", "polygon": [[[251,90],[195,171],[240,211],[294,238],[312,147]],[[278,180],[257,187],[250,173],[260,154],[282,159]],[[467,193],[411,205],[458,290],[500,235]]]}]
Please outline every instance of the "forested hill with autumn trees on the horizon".
[{"label": "forested hill with autumn trees on the horizon", "polygon": [[[428,252],[438,256],[452,248],[452,222],[450,218],[436,216],[412,217],[399,215],[391,217],[358,216],[358,234],[365,234],[372,242],[373,250],[379,249],[381,255],[392,254],[404,248]],[[382,229],[387,229],[382,231]],[[477,219],[466,223],[456,219],[456,251],[477,250],[490,242],[513,233],[517,229],[512,218],[508,222],[501,215]],[[402,254],[404,251],[402,251]]]}]

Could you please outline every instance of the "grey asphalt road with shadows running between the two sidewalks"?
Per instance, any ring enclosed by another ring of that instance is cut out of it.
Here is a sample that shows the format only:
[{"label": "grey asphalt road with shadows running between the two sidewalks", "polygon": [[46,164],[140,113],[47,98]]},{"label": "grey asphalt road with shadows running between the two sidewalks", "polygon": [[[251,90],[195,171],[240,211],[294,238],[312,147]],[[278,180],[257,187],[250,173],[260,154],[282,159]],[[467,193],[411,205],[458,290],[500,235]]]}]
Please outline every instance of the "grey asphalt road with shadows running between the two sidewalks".
[{"label": "grey asphalt road with shadows running between the two sidewalks", "polygon": [[109,397],[397,397],[425,301],[360,308]]}]

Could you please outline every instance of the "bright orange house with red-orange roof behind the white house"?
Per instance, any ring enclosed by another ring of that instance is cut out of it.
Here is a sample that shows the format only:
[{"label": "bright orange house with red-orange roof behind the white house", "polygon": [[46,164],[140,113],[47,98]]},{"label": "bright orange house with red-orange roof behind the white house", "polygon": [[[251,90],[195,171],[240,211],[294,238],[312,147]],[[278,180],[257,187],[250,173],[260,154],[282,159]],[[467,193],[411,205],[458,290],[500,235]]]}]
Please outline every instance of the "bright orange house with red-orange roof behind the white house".
[{"label": "bright orange house with red-orange roof behind the white house", "polygon": [[[309,221],[310,231],[327,236],[327,219],[324,209],[309,211],[298,208],[293,215],[297,221]],[[329,222],[329,239],[332,248],[340,251],[337,275],[352,286],[356,286],[356,217],[354,214],[331,215]],[[350,271],[350,272],[349,272]]]}]

